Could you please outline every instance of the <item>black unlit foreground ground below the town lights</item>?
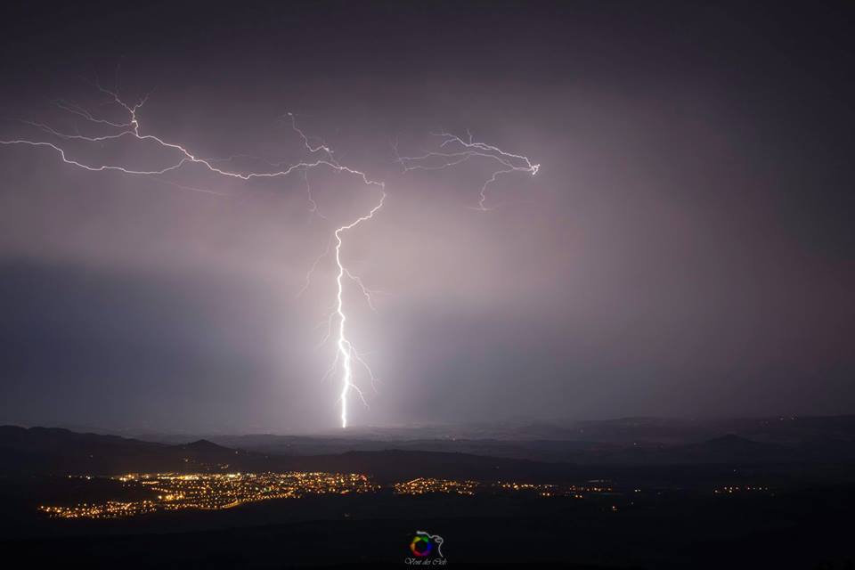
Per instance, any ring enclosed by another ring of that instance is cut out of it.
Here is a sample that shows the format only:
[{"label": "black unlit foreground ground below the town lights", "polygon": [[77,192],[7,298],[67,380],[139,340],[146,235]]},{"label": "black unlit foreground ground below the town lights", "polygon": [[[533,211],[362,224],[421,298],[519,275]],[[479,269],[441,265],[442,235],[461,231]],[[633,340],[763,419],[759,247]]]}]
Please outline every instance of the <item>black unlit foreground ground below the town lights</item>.
[{"label": "black unlit foreground ground below the town lights", "polygon": [[[51,521],[2,543],[34,567],[404,566],[416,530],[449,565],[848,568],[855,488],[783,496],[675,493],[616,512],[602,501],[460,496],[322,497],[126,521]],[[48,534],[50,536],[48,536]]]}]

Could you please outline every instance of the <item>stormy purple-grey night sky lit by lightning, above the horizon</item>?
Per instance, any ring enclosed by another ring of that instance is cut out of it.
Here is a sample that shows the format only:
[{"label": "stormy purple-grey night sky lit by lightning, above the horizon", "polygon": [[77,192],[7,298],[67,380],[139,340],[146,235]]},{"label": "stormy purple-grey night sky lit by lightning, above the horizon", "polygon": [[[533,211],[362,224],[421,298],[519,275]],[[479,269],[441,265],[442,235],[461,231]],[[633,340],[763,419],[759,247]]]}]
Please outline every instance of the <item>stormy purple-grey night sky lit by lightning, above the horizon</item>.
[{"label": "stormy purple-grey night sky lit by lightning, above the horizon", "polygon": [[[290,111],[386,183],[342,249],[385,293],[374,313],[346,285],[379,379],[354,425],[855,409],[845,4],[76,4],[0,8],[0,139],[84,132],[56,99],[120,118],[97,81],[151,93],[143,134],[229,167],[304,159]],[[487,212],[489,160],[395,162],[467,129],[541,165]],[[0,422],[337,428],[329,257],[297,292],[376,192],[308,176],[324,218],[301,175],[0,146]]]}]

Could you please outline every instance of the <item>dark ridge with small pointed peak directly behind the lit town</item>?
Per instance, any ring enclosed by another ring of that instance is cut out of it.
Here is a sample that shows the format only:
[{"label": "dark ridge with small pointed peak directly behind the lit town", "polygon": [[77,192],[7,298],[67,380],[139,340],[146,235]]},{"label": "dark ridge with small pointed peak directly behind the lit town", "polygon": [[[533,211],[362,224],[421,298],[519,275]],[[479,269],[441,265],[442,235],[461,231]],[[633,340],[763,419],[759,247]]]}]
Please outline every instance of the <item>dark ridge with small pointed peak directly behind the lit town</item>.
[{"label": "dark ridge with small pointed peak directly behind the lit town", "polygon": [[450,452],[346,452],[285,457],[230,449],[206,440],[168,445],[66,429],[0,427],[2,475],[115,475],[129,472],[333,471],[393,481],[418,476],[554,479],[572,467]]}]

